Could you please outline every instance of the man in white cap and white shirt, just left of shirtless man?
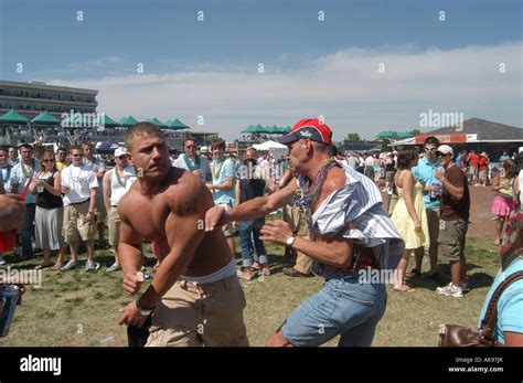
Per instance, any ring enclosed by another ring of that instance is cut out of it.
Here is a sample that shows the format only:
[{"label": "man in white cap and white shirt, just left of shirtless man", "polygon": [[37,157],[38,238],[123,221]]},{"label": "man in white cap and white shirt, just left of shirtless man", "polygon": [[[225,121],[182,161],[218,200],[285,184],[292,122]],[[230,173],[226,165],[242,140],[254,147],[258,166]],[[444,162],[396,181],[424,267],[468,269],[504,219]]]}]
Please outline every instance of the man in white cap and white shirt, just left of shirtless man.
[{"label": "man in white cap and white shirt, just left of shirtless man", "polygon": [[120,147],[115,150],[116,167],[104,174],[104,203],[108,212],[109,245],[115,252],[115,263],[106,272],[120,269],[118,260],[118,243],[120,242],[120,214],[118,203],[136,181],[135,167],[129,164],[127,149]]}]

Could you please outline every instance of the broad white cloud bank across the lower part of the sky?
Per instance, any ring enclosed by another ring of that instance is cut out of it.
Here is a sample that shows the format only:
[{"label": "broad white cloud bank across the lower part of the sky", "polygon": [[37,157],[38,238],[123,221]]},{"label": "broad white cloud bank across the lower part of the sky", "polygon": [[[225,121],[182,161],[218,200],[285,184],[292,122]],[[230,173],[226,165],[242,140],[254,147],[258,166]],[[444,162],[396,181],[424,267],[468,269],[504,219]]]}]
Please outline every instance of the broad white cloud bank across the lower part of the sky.
[{"label": "broad white cloud bank across the lower part of the sky", "polygon": [[[99,91],[99,110],[119,118],[181,118],[195,130],[227,139],[250,124],[291,125],[323,115],[334,139],[350,131],[373,138],[381,130],[417,127],[421,111],[462,111],[521,126],[522,47],[519,42],[453,50],[348,49],[300,63],[300,68],[201,63],[177,73],[108,75],[52,83]],[[100,64],[118,62],[108,57]],[[378,64],[385,73],[378,73]],[[506,73],[499,72],[504,63]],[[205,125],[196,127],[196,116]]]}]

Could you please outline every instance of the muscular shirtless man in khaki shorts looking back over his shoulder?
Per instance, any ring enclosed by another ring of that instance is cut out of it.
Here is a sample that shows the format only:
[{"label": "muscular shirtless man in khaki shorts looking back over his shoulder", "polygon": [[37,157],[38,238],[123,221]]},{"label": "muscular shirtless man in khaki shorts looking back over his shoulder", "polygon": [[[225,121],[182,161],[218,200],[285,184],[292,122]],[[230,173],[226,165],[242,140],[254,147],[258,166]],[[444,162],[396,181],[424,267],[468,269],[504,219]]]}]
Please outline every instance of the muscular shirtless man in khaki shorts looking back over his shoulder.
[{"label": "muscular shirtless man in khaki shorts looking back over his shoulder", "polygon": [[138,177],[118,205],[127,295],[143,281],[143,240],[154,241],[161,254],[151,285],[121,310],[119,323],[141,327],[152,312],[148,347],[248,345],[235,259],[222,231],[204,231],[211,192],[196,175],[171,167],[156,125],[136,124],[125,141]]}]

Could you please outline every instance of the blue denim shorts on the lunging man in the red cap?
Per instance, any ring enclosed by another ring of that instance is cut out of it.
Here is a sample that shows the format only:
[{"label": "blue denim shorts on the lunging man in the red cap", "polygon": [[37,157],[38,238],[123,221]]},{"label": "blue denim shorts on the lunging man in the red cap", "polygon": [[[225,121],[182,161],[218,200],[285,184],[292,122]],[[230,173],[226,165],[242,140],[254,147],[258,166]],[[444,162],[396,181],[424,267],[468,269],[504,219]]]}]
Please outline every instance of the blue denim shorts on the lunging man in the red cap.
[{"label": "blue denim shorts on the lunging man in the red cap", "polygon": [[333,274],[290,313],[281,331],[298,347],[318,347],[337,336],[339,347],[370,347],[386,305],[384,284],[360,284],[357,275]]}]

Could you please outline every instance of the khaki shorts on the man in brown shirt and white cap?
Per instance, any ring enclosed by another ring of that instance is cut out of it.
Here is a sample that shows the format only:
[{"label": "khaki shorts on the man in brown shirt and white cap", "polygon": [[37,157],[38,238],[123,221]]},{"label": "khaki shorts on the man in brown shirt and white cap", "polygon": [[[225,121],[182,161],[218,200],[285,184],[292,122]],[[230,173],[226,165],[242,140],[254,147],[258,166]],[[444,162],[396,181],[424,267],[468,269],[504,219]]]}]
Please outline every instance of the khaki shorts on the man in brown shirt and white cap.
[{"label": "khaki shorts on the man in brown shirt and white cap", "polygon": [[465,259],[468,223],[465,221],[439,221],[439,254],[442,260]]}]

